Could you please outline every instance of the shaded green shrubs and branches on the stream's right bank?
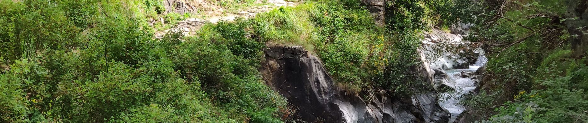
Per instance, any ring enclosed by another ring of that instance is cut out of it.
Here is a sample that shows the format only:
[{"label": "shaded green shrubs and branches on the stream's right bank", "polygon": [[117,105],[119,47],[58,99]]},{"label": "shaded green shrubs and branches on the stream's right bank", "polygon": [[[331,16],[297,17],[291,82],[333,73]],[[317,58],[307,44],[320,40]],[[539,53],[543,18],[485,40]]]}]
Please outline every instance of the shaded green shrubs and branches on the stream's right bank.
[{"label": "shaded green shrubs and branches on the stream's right bank", "polygon": [[[458,2],[459,3],[459,2]],[[485,48],[482,92],[465,114],[482,122],[588,122],[586,1],[462,1],[467,40]],[[459,16],[459,15],[458,15]],[[582,48],[584,47],[584,48]],[[470,115],[471,116],[471,115]]]}]

